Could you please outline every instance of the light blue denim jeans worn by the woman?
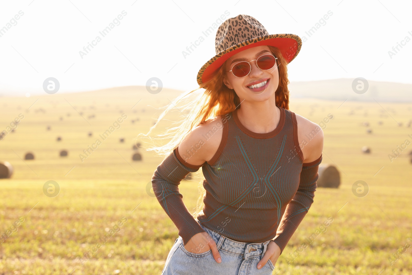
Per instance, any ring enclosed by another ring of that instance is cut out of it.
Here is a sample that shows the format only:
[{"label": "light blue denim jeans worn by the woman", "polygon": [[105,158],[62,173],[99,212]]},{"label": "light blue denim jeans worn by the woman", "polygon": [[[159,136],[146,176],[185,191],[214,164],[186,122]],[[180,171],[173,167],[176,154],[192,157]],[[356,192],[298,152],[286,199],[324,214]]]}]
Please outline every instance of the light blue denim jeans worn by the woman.
[{"label": "light blue denim jeans worn by the woman", "polygon": [[[197,222],[199,223],[199,221]],[[199,225],[215,241],[222,262],[215,261],[212,250],[200,254],[187,251],[183,245],[182,237],[179,236],[166,258],[162,275],[272,274],[274,266],[270,259],[261,269],[256,267],[265,255],[270,240],[261,243],[237,242],[213,232],[200,223]]]}]

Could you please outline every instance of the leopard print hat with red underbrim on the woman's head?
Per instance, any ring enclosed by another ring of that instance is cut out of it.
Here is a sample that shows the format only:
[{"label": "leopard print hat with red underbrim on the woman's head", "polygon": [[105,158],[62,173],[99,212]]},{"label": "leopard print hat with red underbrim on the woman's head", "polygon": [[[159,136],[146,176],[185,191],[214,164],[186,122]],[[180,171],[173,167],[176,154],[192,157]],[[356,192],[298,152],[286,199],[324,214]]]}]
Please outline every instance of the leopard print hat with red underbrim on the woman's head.
[{"label": "leopard print hat with red underbrim on the woman's head", "polygon": [[290,63],[299,53],[302,40],[295,34],[269,34],[258,20],[246,14],[228,18],[216,32],[216,55],[200,68],[197,83],[201,85],[210,79],[229,57],[260,45],[278,47]]}]

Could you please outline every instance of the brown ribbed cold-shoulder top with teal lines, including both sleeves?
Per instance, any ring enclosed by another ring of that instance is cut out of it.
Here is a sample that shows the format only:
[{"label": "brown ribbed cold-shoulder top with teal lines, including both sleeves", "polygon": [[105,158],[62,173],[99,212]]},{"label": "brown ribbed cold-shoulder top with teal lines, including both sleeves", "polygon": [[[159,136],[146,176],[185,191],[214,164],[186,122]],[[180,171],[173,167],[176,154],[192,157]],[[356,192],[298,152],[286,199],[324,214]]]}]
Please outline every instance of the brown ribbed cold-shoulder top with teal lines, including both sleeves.
[{"label": "brown ribbed cold-shoulder top with teal lines, including both sleeves", "polygon": [[[241,124],[234,110],[223,122],[222,140],[211,160],[191,165],[177,147],[157,167],[153,190],[179,229],[183,244],[204,232],[201,223],[238,242],[273,240],[281,251],[286,247],[313,202],[322,155],[303,163],[296,115],[284,108],[280,111],[273,131],[255,133]],[[200,167],[206,195],[198,223],[177,186]]]}]

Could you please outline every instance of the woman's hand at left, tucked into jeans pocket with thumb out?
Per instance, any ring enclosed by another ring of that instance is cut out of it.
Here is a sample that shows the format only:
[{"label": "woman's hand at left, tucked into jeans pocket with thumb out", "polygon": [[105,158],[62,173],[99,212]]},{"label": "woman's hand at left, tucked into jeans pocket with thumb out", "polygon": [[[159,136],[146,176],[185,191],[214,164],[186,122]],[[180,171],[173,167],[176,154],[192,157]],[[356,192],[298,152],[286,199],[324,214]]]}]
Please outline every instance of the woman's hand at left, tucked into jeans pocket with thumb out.
[{"label": "woman's hand at left, tucked into jeans pocket with thumb out", "polygon": [[218,263],[222,262],[218,248],[213,238],[207,232],[201,232],[194,235],[190,240],[184,245],[185,249],[189,252],[200,254],[212,250],[213,258]]}]

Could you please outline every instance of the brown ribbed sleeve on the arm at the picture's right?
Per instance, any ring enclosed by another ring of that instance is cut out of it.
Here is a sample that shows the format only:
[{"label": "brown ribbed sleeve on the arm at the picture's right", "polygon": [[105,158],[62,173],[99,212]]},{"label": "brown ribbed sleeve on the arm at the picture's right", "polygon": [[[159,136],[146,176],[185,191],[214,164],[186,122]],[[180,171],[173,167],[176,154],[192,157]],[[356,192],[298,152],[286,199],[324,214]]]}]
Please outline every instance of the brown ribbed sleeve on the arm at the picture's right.
[{"label": "brown ribbed sleeve on the arm at the picture's right", "polygon": [[302,165],[299,188],[286,207],[276,237],[273,239],[279,245],[281,254],[313,203],[317,187],[316,181],[319,178],[318,168],[321,162],[322,155],[317,160]]}]

